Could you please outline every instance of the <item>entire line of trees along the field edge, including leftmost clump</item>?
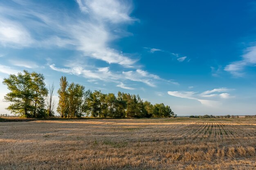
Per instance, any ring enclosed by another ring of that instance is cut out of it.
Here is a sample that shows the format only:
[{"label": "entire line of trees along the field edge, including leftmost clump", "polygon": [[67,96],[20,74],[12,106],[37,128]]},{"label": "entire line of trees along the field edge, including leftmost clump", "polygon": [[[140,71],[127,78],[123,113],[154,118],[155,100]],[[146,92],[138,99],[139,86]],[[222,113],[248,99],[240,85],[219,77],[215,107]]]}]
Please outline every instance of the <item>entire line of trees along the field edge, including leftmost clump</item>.
[{"label": "entire line of trees along the field edge, including leftmost clump", "polygon": [[[46,88],[43,74],[24,70],[18,75],[4,78],[3,84],[9,89],[4,96],[11,104],[6,108],[11,113],[23,117],[52,117],[55,102],[54,84]],[[104,94],[101,91],[85,90],[85,86],[60,79],[57,112],[61,117],[176,117],[170,106],[151,104],[139,95],[118,92]]]}]

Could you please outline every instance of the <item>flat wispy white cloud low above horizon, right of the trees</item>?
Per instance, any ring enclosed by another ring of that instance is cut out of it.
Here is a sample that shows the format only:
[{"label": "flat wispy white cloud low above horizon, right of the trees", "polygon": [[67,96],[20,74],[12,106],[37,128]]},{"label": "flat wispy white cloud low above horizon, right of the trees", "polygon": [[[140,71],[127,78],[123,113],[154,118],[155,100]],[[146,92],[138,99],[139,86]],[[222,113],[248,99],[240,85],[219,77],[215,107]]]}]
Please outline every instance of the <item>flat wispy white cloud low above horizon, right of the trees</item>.
[{"label": "flat wispy white cloud low above horizon, right of the trees", "polygon": [[[229,88],[215,88],[213,90],[204,91],[202,93],[194,92],[194,91],[168,91],[168,95],[185,98],[185,99],[193,99],[199,101],[203,105],[207,106],[216,106],[216,104],[220,104],[219,101],[216,101],[218,98],[229,99],[234,98],[229,93],[222,93],[227,91],[232,91],[234,89]],[[213,98],[211,100],[206,98]]]}]

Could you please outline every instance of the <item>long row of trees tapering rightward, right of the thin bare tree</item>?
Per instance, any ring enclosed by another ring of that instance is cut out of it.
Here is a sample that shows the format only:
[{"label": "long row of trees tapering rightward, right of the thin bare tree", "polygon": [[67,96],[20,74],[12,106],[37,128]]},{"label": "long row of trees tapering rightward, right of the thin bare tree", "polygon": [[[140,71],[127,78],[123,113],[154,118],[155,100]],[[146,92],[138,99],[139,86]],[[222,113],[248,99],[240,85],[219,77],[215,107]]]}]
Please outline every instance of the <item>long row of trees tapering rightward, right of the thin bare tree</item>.
[{"label": "long row of trees tapering rightward, right of the thin bare tree", "polygon": [[61,77],[58,89],[57,112],[61,117],[175,117],[170,106],[151,104],[139,95],[129,93],[104,94],[101,91],[85,91],[85,87],[74,82],[68,83]]}]

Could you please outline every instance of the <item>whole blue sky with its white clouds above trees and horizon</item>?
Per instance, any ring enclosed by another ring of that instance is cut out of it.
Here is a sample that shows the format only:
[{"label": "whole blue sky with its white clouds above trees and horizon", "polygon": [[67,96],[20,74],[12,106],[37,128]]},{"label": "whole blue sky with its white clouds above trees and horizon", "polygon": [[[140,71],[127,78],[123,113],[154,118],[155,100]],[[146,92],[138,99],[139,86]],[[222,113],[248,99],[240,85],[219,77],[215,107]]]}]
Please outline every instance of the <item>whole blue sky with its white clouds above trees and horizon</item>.
[{"label": "whole blue sky with its white clouds above trees and horizon", "polygon": [[255,66],[253,0],[0,1],[1,82],[26,69],[177,115],[255,115]]}]

